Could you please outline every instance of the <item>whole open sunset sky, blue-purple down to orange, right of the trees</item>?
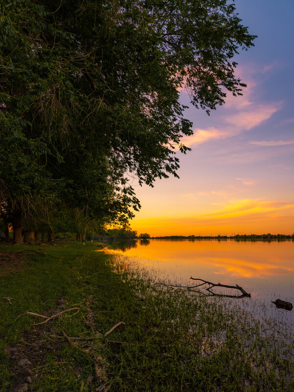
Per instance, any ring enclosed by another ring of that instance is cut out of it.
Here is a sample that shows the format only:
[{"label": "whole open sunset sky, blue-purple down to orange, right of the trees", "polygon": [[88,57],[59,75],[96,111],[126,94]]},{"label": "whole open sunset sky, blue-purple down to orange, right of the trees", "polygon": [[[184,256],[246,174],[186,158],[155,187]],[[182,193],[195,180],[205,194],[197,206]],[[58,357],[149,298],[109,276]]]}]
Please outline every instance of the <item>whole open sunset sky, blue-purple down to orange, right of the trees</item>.
[{"label": "whole open sunset sky, blue-purple down to orange, right of the trees", "polygon": [[294,232],[294,1],[236,0],[254,47],[241,51],[241,97],[210,116],[187,104],[194,135],[180,154],[180,179],[140,187],[131,228],[163,235]]}]

